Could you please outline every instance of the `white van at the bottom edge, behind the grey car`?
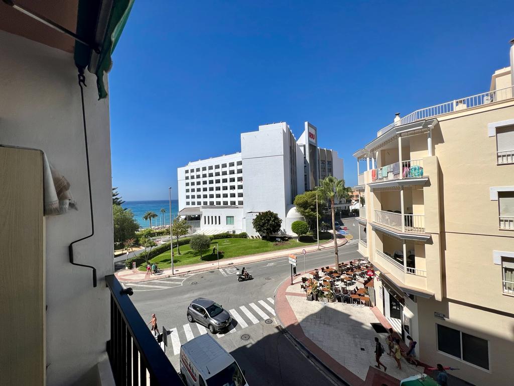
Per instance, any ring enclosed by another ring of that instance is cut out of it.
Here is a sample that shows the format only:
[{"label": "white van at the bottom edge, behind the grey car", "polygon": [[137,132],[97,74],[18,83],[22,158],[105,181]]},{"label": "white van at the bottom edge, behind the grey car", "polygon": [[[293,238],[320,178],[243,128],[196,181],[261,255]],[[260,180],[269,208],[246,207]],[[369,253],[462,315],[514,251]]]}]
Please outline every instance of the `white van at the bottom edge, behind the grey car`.
[{"label": "white van at the bottom edge, behind the grey car", "polygon": [[180,373],[188,386],[245,386],[235,359],[209,334],[180,346]]}]

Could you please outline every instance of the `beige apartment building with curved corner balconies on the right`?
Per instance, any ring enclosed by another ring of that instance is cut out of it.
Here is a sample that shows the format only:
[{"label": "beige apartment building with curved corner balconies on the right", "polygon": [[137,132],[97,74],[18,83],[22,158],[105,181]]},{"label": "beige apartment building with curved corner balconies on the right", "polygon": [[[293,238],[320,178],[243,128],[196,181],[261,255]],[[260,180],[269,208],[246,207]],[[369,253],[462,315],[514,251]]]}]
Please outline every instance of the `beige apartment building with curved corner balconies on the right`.
[{"label": "beige apartment building with curved corner balconies on the right", "polygon": [[418,342],[421,361],[476,385],[514,384],[510,43],[488,92],[396,114],[354,154],[375,306]]}]

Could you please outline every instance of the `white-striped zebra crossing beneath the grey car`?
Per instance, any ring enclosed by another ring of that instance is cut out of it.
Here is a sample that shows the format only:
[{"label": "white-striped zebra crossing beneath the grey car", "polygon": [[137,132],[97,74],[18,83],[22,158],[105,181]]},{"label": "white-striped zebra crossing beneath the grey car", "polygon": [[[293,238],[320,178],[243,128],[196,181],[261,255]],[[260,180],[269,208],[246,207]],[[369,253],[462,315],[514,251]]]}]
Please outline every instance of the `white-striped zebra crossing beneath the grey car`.
[{"label": "white-striped zebra crossing beneath the grey car", "polygon": [[[261,323],[263,320],[270,319],[272,316],[274,317],[274,304],[275,301],[273,298],[268,297],[266,300],[259,300],[248,305],[228,310],[232,315],[232,324],[229,326],[229,329],[225,334],[216,334],[214,336],[221,339],[227,334],[233,334],[234,332],[243,330],[248,326],[253,326]],[[175,356],[180,353],[180,345],[183,343],[189,342],[195,337],[208,333],[209,330],[198,323],[187,323],[179,327],[170,328],[168,342],[171,342],[170,348],[173,350],[173,355]],[[168,345],[170,344],[168,343]]]}]

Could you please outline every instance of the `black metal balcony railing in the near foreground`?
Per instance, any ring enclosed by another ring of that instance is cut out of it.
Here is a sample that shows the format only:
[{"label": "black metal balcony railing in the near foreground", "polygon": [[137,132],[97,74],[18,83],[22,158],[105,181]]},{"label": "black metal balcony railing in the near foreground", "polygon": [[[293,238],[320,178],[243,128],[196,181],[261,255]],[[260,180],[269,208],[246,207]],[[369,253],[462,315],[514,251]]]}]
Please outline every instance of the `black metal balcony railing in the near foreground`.
[{"label": "black metal balcony railing in the near foreground", "polygon": [[111,290],[111,340],[107,342],[107,354],[116,384],[182,386],[179,375],[128,297],[132,289],[123,289],[114,275],[105,276],[105,282]]}]

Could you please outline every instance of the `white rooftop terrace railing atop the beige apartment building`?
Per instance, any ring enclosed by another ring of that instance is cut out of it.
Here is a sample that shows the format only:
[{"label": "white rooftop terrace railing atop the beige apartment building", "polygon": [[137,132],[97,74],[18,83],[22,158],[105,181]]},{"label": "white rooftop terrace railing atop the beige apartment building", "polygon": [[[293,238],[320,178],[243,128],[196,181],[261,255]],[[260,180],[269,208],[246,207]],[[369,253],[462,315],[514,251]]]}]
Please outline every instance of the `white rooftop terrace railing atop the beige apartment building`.
[{"label": "white rooftop terrace railing atop the beige apartment building", "polygon": [[510,99],[514,96],[514,86],[506,87],[505,89],[488,91],[486,93],[473,95],[463,99],[454,99],[450,102],[437,104],[436,106],[427,107],[425,109],[416,110],[409,115],[406,115],[400,120],[393,122],[391,125],[384,127],[377,132],[377,137],[387,133],[395,126],[410,124],[416,120],[426,119],[435,117],[437,115],[443,115],[453,113],[460,110],[469,109],[472,107],[482,106],[484,104],[498,102],[502,100]]}]

